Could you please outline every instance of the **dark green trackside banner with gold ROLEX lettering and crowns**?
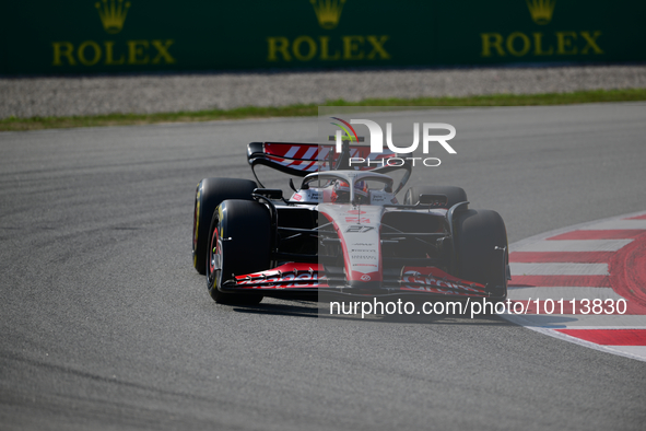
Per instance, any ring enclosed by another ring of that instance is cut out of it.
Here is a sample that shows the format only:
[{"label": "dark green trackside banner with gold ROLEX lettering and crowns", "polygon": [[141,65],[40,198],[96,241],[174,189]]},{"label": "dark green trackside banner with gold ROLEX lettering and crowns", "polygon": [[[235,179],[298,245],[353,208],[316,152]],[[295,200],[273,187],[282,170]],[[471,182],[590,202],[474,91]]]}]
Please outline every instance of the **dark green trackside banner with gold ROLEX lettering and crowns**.
[{"label": "dark green trackside banner with gold ROLEX lettering and crowns", "polygon": [[636,0],[12,1],[0,73],[646,60]]}]

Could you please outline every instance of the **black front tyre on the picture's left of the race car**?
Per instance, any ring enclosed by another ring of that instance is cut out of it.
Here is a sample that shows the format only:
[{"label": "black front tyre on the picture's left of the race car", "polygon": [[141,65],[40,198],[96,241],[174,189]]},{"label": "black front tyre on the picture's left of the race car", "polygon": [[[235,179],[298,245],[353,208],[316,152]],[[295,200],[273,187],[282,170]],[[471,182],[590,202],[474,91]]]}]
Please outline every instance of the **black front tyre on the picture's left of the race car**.
[{"label": "black front tyre on the picture's left of the race car", "polygon": [[271,217],[262,203],[225,200],[213,213],[209,229],[207,284],[221,304],[257,304],[259,294],[226,293],[222,283],[236,276],[269,269]]}]

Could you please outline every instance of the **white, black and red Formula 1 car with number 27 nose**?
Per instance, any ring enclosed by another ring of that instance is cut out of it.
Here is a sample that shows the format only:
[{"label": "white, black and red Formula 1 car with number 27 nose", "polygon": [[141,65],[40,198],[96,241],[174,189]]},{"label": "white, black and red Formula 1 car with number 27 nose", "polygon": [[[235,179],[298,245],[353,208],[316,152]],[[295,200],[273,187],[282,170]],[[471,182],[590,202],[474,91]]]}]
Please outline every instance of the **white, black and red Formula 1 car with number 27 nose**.
[{"label": "white, black and red Formula 1 car with number 27 nose", "polygon": [[[192,259],[219,303],[263,296],[423,294],[434,300],[504,301],[509,275],[505,224],[495,211],[468,208],[455,186],[396,195],[410,161],[343,142],[251,142],[257,182],[204,178],[197,187]],[[363,160],[357,165],[351,161]],[[372,162],[372,163],[371,163]],[[257,166],[303,177],[286,199],[265,188]],[[400,174],[397,187],[394,176]]]}]

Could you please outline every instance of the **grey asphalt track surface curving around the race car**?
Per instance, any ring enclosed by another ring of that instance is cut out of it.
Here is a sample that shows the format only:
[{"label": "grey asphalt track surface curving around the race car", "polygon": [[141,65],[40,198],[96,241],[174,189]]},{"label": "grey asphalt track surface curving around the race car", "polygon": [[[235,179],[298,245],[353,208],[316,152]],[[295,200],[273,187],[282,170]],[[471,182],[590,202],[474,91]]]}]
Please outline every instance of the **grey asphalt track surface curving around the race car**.
[{"label": "grey asphalt track surface curving around the race car", "polygon": [[[509,241],[643,210],[646,105],[437,110]],[[195,186],[315,119],[0,133],[0,429],[644,430],[646,363],[495,316],[356,322],[215,304]],[[278,178],[279,176],[274,176]],[[321,322],[325,321],[325,322]]]}]

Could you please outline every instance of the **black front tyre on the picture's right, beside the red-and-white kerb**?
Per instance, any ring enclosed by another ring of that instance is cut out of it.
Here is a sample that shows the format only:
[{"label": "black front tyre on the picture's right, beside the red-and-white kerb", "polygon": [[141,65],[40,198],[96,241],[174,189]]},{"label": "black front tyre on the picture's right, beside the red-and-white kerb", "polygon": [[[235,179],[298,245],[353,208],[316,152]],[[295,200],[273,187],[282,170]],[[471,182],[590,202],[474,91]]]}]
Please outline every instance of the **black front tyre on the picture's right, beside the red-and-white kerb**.
[{"label": "black front tyre on the picture's right, beside the red-and-white kerb", "polygon": [[457,273],[490,288],[496,301],[507,298],[507,231],[501,215],[467,210],[455,217]]}]

